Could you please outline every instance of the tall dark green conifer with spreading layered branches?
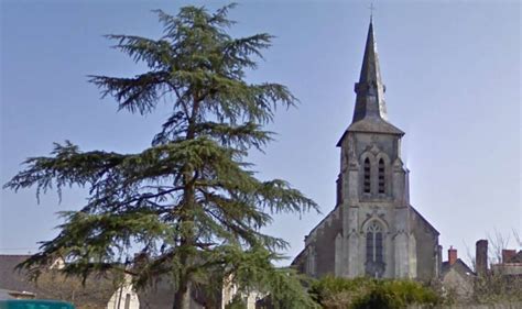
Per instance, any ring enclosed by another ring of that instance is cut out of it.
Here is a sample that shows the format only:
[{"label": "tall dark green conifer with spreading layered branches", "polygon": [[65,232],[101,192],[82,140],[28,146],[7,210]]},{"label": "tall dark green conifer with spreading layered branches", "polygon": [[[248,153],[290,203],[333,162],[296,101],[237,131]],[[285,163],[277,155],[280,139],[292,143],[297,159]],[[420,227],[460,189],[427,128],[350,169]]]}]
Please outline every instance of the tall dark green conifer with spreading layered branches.
[{"label": "tall dark green conifer with spreading layered branches", "polygon": [[119,110],[144,115],[166,101],[171,113],[140,153],[81,152],[67,141],[50,156],[24,162],[6,188],[35,187],[39,195],[78,185],[89,192],[79,211],[62,212],[59,234],[42,242],[25,269],[37,276],[59,256],[68,262],[64,272],[84,278],[124,272],[140,287],[167,274],[174,308],[183,309],[191,290],[216,290],[224,280],[269,294],[275,306],[311,305],[291,271],[272,264],[287,243],[261,228],[273,213],[317,207],[284,180],[257,179],[244,161],[249,150],[271,141],[263,125],[275,109],[297,100],[285,86],[246,80],[272,36],[230,36],[232,7],[213,13],[185,7],[177,15],[157,10],[160,40],[108,35],[148,71],[90,81]]}]

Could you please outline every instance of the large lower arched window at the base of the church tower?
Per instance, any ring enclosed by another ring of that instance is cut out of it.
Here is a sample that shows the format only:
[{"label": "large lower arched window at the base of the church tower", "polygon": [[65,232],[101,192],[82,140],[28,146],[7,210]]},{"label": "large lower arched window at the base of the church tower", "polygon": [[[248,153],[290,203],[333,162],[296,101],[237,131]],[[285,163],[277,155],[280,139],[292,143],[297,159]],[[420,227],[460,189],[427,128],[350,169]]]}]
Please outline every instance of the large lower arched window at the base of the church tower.
[{"label": "large lower arched window at the base of the church tower", "polygon": [[368,225],[366,233],[366,273],[370,277],[381,278],[385,266],[382,254],[382,227],[373,221]]}]

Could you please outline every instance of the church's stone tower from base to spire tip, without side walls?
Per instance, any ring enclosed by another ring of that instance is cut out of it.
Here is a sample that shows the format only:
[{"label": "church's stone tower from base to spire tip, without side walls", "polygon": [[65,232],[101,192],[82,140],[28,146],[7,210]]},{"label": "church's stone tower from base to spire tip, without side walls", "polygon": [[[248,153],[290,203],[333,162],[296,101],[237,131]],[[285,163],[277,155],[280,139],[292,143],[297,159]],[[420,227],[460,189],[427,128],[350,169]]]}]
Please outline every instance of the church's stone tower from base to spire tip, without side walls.
[{"label": "church's stone tower from base to spire tip, without side walls", "polygon": [[415,277],[404,132],[388,120],[379,54],[370,22],[351,124],[341,148],[337,206],[344,212],[345,262],[338,275]]}]

